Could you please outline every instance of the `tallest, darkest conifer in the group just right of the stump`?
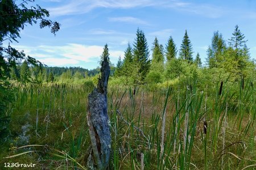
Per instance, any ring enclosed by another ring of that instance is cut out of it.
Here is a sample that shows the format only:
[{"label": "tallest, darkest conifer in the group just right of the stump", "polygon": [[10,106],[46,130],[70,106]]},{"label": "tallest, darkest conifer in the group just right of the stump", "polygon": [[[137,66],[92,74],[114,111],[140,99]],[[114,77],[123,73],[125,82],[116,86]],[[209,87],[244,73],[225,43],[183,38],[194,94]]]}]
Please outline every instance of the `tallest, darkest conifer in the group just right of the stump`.
[{"label": "tallest, darkest conifer in the group just right of the stump", "polygon": [[150,69],[149,51],[144,32],[137,29],[134,42],[134,80],[135,84],[143,84]]}]

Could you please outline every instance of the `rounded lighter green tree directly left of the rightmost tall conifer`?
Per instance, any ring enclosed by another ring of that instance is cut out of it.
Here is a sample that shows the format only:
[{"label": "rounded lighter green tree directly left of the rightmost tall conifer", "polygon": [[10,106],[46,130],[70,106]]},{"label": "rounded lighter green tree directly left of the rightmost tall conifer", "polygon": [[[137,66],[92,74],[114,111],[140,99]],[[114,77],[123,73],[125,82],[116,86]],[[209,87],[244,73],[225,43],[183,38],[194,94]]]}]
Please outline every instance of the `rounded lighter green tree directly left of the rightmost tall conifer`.
[{"label": "rounded lighter green tree directly left of the rightmost tall conifer", "polygon": [[209,68],[219,67],[220,63],[224,61],[224,51],[226,44],[222,38],[222,34],[218,31],[213,33],[212,44],[207,50],[207,63]]}]

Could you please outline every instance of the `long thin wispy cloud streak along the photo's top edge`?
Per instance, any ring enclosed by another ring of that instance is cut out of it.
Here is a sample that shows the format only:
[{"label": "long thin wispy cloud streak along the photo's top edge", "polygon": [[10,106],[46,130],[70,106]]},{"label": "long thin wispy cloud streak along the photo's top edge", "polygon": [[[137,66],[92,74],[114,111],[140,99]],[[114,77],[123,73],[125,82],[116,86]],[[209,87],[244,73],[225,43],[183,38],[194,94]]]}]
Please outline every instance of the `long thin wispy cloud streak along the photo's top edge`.
[{"label": "long thin wispy cloud streak along the photo's top edge", "polygon": [[[61,16],[85,14],[92,11],[94,8],[134,8],[149,6],[172,8],[177,11],[189,12],[208,18],[218,18],[222,16],[226,10],[220,6],[213,6],[208,3],[189,3],[181,0],[71,0],[65,5],[49,8],[49,11],[51,15]],[[119,20],[120,19],[121,18],[119,18]],[[123,20],[129,20],[129,18],[123,18]],[[137,22],[137,20],[135,20],[135,22]]]}]

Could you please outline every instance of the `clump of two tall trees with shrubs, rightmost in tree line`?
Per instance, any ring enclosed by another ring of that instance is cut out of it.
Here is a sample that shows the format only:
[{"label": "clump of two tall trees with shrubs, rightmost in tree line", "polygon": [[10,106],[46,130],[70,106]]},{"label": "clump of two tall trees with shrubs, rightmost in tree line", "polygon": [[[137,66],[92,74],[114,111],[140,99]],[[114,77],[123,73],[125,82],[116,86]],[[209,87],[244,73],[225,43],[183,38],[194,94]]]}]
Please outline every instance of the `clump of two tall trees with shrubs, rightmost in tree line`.
[{"label": "clump of two tall trees with shrubs, rightmost in tree line", "polygon": [[213,67],[222,68],[234,78],[237,75],[247,75],[246,68],[251,65],[249,61],[249,49],[246,46],[245,36],[236,25],[233,37],[229,39],[226,47],[221,33],[214,32],[212,44],[207,50],[207,62],[210,69]]}]

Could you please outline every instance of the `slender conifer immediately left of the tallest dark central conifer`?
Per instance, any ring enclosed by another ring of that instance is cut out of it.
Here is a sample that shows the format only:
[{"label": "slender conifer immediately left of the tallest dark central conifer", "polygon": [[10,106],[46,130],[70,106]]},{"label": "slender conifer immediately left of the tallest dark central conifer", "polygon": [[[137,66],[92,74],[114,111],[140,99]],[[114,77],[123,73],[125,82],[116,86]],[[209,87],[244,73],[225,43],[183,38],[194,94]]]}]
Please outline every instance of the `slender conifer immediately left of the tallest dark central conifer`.
[{"label": "slender conifer immediately left of the tallest dark central conifer", "polygon": [[127,49],[125,50],[122,71],[124,76],[131,76],[133,73],[133,49],[130,43],[128,43]]}]

